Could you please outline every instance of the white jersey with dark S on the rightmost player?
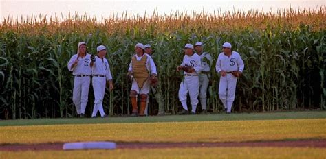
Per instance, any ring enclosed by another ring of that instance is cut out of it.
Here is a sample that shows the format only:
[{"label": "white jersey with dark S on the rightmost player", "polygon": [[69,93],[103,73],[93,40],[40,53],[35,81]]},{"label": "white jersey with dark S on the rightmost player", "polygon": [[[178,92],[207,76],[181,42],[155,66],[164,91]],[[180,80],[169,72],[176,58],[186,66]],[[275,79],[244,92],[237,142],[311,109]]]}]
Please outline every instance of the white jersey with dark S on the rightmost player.
[{"label": "white jersey with dark S on the rightmost player", "polygon": [[224,54],[224,52],[219,53],[219,58],[217,58],[216,71],[219,73],[220,71],[240,71],[242,72],[244,69],[243,60],[241,56],[236,51],[232,51],[231,56],[228,57]]}]

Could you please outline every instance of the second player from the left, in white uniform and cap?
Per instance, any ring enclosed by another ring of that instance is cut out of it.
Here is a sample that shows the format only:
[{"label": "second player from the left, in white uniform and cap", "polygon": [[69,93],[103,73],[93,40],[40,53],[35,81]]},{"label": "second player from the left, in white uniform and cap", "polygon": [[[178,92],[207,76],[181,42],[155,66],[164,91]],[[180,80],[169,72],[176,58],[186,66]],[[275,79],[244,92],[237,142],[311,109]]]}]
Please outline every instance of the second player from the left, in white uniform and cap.
[{"label": "second player from the left, in white uniform and cap", "polygon": [[91,117],[95,118],[97,112],[100,112],[100,116],[102,118],[107,117],[103,110],[103,99],[105,95],[105,86],[109,84],[109,90],[113,90],[113,79],[110,71],[109,62],[105,58],[107,54],[107,48],[103,45],[97,47],[96,51],[98,52],[97,56],[91,56],[91,62],[89,65],[91,66],[92,73],[92,84],[94,90],[94,108]]}]

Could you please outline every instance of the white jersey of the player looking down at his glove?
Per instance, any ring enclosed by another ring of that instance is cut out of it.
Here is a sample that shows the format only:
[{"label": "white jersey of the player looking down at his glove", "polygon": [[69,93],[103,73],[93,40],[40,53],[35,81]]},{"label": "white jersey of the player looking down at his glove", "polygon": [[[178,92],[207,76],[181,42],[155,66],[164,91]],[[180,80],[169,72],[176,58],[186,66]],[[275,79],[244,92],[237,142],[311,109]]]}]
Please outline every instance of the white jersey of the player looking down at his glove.
[{"label": "white jersey of the player looking down at his glove", "polygon": [[200,56],[197,53],[193,53],[192,56],[185,55],[184,59],[182,60],[181,66],[185,66],[187,64],[188,66],[192,66],[195,69],[195,72],[193,73],[186,73],[188,75],[198,75],[202,71],[202,60],[200,60]]}]

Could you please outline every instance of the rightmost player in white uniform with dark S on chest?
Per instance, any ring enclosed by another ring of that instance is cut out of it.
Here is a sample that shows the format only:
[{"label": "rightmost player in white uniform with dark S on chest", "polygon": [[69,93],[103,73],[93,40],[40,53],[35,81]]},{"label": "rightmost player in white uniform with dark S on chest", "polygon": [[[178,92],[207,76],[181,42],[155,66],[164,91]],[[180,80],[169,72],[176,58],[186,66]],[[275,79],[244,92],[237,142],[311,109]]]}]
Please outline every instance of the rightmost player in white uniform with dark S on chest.
[{"label": "rightmost player in white uniform with dark S on chest", "polygon": [[223,44],[223,52],[219,53],[216,62],[216,71],[221,75],[219,80],[219,99],[221,99],[226,113],[231,113],[232,103],[235,100],[237,78],[241,76],[244,64],[241,56],[232,51],[229,42]]}]

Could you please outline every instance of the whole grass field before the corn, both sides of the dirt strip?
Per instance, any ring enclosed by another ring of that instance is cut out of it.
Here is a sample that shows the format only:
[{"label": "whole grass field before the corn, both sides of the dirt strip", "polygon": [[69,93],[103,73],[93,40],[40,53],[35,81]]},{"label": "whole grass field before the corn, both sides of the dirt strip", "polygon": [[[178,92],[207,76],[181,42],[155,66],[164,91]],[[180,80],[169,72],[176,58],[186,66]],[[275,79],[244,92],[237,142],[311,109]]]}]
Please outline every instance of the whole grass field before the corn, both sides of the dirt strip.
[{"label": "whole grass field before the corn, both sides of the dirt strip", "polygon": [[[245,142],[326,139],[326,112],[0,121],[0,145],[73,141]],[[308,147],[0,151],[1,158],[325,158]]]}]

